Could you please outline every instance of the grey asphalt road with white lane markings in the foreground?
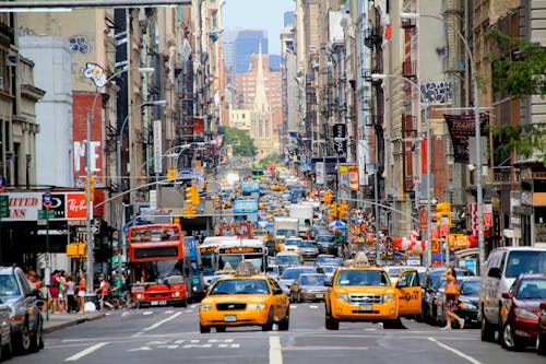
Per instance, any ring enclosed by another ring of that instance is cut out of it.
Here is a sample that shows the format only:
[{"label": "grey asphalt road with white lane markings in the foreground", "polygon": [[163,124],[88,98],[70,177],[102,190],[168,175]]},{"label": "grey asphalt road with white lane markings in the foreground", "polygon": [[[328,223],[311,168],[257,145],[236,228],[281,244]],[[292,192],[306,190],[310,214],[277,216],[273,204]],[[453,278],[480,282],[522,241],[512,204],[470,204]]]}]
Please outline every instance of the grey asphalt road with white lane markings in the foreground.
[{"label": "grey asphalt road with white lane markings in the foreground", "polygon": [[323,304],[292,305],[288,331],[259,327],[199,333],[198,306],[109,312],[105,318],[48,333],[46,348],[9,363],[545,363],[529,349],[509,352],[479,340],[478,329],[441,331],[403,320],[405,329],[341,322],[324,329]]}]

